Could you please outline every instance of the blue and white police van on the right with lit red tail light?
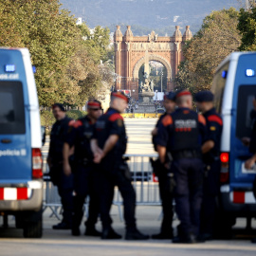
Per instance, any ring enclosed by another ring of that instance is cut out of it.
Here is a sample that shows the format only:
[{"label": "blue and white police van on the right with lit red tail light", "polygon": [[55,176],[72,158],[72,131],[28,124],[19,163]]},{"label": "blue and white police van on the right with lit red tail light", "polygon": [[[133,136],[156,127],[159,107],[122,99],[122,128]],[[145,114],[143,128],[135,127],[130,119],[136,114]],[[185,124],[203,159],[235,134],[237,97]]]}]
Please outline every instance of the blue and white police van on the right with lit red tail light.
[{"label": "blue and white police van on the right with lit red tail light", "polygon": [[211,91],[223,118],[221,138],[220,225],[230,229],[237,217],[256,216],[252,183],[256,169],[247,170],[251,155],[242,142],[251,135],[250,111],[256,96],[256,52],[233,52],[216,69]]}]

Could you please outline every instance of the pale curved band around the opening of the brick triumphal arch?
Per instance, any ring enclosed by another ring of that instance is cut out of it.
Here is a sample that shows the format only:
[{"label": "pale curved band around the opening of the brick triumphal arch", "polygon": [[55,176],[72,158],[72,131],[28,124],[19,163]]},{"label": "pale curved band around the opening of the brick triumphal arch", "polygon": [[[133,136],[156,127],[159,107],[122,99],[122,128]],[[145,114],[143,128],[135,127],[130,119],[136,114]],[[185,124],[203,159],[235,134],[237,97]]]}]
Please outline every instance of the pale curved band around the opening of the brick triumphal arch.
[{"label": "pale curved band around the opening of the brick triumphal arch", "polygon": [[[149,62],[150,61],[155,61],[158,62],[160,64],[163,64],[166,67],[167,70],[167,80],[172,78],[172,67],[171,64],[169,64],[163,57],[156,55],[156,54],[151,54],[149,57]],[[139,68],[142,64],[145,64],[145,57],[142,57],[141,59],[139,59],[137,61],[137,64],[134,65],[133,68],[133,78],[134,79],[138,79],[138,71]]]}]

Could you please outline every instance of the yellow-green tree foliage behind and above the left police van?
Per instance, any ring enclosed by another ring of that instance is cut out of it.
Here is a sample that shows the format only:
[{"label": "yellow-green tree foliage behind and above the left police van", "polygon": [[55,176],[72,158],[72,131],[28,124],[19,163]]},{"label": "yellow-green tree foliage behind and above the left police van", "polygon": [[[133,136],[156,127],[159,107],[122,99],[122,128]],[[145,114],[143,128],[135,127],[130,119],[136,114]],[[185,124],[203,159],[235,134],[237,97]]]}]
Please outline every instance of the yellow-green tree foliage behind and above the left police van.
[{"label": "yellow-green tree foliage behind and above the left police van", "polygon": [[81,106],[95,96],[102,80],[100,60],[107,58],[108,28],[96,27],[91,35],[59,0],[1,1],[0,15],[0,46],[29,49],[40,105]]}]

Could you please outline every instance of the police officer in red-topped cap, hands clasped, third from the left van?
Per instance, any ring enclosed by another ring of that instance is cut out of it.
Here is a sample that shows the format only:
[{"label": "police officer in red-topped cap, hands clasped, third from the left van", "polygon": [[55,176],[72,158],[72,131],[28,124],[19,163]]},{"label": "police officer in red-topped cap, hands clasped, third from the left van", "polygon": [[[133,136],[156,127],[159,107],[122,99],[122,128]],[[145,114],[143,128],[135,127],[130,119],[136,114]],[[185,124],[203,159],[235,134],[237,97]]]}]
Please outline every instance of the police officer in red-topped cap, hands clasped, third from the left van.
[{"label": "police officer in red-topped cap, hands clasped, third from the left van", "polygon": [[121,236],[111,227],[110,209],[114,187],[119,187],[123,198],[126,240],[144,240],[149,236],[137,230],[135,210],[136,193],[131,184],[130,171],[122,155],[126,150],[126,132],[120,113],[127,107],[128,99],[121,92],[112,92],[110,108],[96,122],[92,150],[94,161],[101,163],[101,222],[102,239],[119,239]]}]

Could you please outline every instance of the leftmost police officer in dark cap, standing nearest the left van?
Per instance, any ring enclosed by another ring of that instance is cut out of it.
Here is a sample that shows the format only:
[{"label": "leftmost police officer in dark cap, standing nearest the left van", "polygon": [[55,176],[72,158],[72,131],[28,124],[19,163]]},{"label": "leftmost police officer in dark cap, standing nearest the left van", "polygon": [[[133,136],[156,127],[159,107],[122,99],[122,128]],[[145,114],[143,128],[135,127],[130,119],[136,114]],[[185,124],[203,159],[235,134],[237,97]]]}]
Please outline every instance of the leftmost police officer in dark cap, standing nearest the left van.
[{"label": "leftmost police officer in dark cap, standing nearest the left van", "polygon": [[52,226],[52,229],[71,229],[73,210],[73,177],[64,175],[63,170],[63,146],[64,137],[68,131],[68,123],[72,120],[66,117],[64,106],[55,103],[52,113],[56,122],[53,124],[50,134],[50,146],[47,162],[50,168],[49,175],[54,185],[58,187],[63,205],[63,220]]}]

